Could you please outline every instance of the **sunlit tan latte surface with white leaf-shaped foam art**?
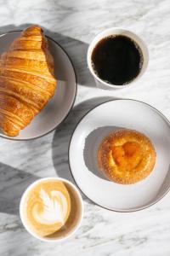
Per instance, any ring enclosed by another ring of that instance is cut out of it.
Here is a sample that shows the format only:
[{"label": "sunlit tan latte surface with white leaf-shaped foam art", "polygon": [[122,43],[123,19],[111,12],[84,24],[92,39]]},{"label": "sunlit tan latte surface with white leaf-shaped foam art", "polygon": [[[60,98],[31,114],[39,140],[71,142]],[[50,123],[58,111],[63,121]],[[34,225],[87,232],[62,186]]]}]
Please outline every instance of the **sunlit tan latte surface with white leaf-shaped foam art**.
[{"label": "sunlit tan latte surface with white leaf-shaped foam art", "polygon": [[60,230],[70,212],[70,195],[60,181],[43,181],[27,195],[26,218],[39,236],[48,236]]}]

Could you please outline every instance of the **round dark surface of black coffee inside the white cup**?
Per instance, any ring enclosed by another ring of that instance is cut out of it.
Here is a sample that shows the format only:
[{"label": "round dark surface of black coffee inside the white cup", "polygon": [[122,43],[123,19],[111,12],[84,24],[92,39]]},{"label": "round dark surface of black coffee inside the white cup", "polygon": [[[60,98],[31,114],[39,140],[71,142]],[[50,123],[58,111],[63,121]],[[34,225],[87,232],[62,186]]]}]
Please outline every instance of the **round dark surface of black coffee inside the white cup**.
[{"label": "round dark surface of black coffee inside the white cup", "polygon": [[126,36],[102,39],[92,53],[94,72],[110,84],[128,84],[135,79],[143,65],[139,45]]}]

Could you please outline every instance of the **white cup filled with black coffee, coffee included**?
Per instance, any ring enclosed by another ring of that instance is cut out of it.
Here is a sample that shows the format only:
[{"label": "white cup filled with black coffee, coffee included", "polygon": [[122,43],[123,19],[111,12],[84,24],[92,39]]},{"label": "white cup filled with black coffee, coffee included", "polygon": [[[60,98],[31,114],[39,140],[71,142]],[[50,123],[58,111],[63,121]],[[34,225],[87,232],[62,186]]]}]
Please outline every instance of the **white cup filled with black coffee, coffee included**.
[{"label": "white cup filled with black coffee, coffee included", "polygon": [[88,68],[100,89],[127,88],[145,72],[149,53],[134,32],[112,27],[100,32],[88,47]]}]

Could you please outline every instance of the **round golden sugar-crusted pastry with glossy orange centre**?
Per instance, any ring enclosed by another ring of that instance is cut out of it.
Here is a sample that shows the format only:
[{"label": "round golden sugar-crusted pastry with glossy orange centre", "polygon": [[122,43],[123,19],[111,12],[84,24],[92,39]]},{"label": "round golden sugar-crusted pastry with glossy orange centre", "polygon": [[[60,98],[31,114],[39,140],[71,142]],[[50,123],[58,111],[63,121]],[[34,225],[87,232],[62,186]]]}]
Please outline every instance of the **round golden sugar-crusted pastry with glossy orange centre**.
[{"label": "round golden sugar-crusted pastry with glossy orange centre", "polygon": [[111,181],[139,182],[156,163],[156,151],[148,137],[133,130],[119,130],[105,137],[98,151],[99,169]]}]

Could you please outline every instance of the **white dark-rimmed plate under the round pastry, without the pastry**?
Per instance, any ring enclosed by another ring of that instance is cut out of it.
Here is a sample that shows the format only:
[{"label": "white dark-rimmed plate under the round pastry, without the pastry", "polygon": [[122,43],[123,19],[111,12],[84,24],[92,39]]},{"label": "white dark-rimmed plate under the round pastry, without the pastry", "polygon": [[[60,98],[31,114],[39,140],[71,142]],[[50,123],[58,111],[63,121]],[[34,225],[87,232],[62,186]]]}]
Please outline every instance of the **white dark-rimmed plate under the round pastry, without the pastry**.
[{"label": "white dark-rimmed plate under the round pastry, without the pastry", "polygon": [[[108,181],[98,170],[97,148],[110,131],[120,128],[143,132],[156,148],[156,166],[149,177],[131,185]],[[132,212],[159,201],[170,187],[170,124],[150,105],[133,100],[105,102],[88,112],[71,137],[72,176],[82,192],[100,207]]]}]

